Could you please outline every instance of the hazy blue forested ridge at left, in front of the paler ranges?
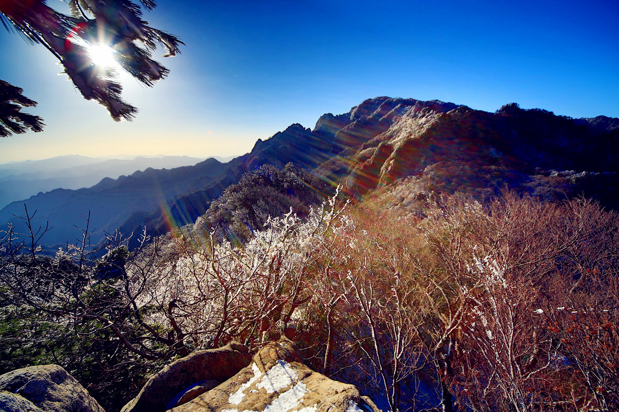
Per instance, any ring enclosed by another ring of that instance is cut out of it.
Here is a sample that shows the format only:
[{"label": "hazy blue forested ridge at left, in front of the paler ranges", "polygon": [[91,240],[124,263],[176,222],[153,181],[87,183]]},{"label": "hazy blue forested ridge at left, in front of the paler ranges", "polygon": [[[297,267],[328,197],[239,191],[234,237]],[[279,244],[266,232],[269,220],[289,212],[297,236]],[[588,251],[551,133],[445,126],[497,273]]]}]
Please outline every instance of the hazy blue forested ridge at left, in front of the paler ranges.
[{"label": "hazy blue forested ridge at left, in front of the paler ranges", "polygon": [[214,179],[223,170],[225,164],[207,159],[195,166],[169,170],[149,168],[118,179],[105,178],[90,188],[56,189],[9,204],[0,211],[0,221],[10,222],[17,231],[23,232],[23,222],[14,215],[24,216],[25,203],[30,214],[37,211],[37,227],[45,226],[46,221],[54,226],[41,242],[46,245],[76,243],[80,232],[74,225],[84,227],[82,216],[88,216],[90,212],[92,242],[99,242],[104,232],[113,233],[133,212],[152,211],[159,205],[165,209],[169,201],[188,191],[197,179]]}]

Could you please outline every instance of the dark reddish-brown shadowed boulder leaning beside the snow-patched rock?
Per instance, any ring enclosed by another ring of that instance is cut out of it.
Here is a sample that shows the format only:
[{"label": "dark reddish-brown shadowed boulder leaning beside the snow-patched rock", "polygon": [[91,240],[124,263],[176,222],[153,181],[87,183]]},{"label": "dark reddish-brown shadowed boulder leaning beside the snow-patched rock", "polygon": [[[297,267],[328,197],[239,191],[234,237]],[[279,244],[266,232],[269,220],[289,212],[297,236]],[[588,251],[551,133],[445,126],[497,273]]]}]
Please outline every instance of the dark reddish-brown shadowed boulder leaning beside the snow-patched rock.
[{"label": "dark reddish-brown shadowed boulder leaning beside the snow-patched rock", "polygon": [[[206,390],[210,389],[214,382],[209,381],[216,380],[216,384],[224,382],[245,368],[249,361],[249,350],[240,343],[196,351],[152,376],[137,397],[123,407],[122,412],[163,412],[178,403],[172,402],[176,398],[186,401],[193,395],[199,395],[202,389],[195,390],[196,387],[208,384]],[[186,393],[193,395],[184,396]]]}]

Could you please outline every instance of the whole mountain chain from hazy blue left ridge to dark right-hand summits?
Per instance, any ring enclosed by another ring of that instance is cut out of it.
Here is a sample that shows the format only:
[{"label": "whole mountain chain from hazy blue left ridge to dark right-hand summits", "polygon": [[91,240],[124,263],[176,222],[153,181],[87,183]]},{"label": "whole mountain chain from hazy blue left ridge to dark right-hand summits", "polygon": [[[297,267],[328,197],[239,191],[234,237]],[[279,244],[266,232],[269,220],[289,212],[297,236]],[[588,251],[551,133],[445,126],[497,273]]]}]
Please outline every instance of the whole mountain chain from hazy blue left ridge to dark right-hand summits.
[{"label": "whole mountain chain from hazy blue left ridge to dark right-hand summits", "polygon": [[53,190],[0,211],[0,222],[18,225],[12,214],[38,210],[37,225],[54,229],[44,243],[74,243],[81,215],[90,211],[93,240],[104,232],[144,226],[163,233],[193,223],[228,185],[262,164],[288,162],[313,170],[353,196],[415,180],[420,201],[433,193],[465,191],[477,197],[505,188],[556,200],[584,193],[617,208],[619,119],[571,119],[542,109],[507,104],[495,113],[441,101],[387,97],[368,99],[350,112],[325,114],[313,130],[293,124],[247,153],[223,164],[146,169],[103,179],[79,190]]}]

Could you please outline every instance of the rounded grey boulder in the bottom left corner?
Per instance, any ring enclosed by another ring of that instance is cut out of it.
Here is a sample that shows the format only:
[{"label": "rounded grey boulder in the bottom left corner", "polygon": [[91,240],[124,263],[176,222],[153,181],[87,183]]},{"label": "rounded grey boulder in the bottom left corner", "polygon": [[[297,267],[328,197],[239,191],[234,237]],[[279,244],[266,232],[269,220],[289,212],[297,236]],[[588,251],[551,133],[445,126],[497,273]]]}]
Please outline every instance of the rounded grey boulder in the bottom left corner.
[{"label": "rounded grey boulder in the bottom left corner", "polygon": [[61,366],[16,369],[0,376],[2,412],[105,412]]}]

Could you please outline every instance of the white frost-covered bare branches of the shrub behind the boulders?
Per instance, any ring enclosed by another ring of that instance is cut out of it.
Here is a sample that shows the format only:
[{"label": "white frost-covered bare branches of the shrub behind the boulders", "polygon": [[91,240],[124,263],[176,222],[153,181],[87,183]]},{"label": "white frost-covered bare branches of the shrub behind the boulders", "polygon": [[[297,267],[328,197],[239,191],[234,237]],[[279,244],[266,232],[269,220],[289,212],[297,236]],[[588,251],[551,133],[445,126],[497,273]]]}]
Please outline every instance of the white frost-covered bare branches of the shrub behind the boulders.
[{"label": "white frost-covered bare branches of the shrub behind the boulders", "polygon": [[265,230],[241,246],[215,242],[197,224],[196,231],[180,231],[166,246],[171,251],[162,253],[160,273],[139,304],[169,307],[155,320],[173,320],[191,347],[218,347],[231,336],[247,342],[277,338],[312,296],[304,276],[311,251],[322,248],[327,233],[348,224],[335,199],[312,209],[305,220],[292,211],[271,217]]}]

